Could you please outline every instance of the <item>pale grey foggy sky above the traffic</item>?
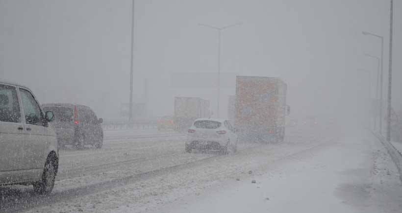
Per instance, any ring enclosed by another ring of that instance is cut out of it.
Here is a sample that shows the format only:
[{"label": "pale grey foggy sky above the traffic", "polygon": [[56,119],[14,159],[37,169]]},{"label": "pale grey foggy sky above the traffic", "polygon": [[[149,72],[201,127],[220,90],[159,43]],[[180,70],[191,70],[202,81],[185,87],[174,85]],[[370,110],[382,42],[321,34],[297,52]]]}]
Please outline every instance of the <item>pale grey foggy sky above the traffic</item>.
[{"label": "pale grey foggy sky above the traffic", "polygon": [[[393,104],[402,108],[402,2],[394,4]],[[222,32],[221,71],[282,78],[292,115],[365,107],[361,70],[373,71],[375,85],[377,67],[364,54],[380,56],[380,42],[361,31],[383,35],[386,97],[388,1],[136,0],[134,99],[150,79],[150,116],[173,114],[175,95],[209,99],[215,111],[215,88],[171,85],[171,73],[217,71],[217,32],[200,23],[241,23]],[[81,103],[116,118],[128,101],[130,27],[131,0],[0,0],[0,79],[28,86],[41,103]],[[234,85],[221,92],[226,116]]]}]

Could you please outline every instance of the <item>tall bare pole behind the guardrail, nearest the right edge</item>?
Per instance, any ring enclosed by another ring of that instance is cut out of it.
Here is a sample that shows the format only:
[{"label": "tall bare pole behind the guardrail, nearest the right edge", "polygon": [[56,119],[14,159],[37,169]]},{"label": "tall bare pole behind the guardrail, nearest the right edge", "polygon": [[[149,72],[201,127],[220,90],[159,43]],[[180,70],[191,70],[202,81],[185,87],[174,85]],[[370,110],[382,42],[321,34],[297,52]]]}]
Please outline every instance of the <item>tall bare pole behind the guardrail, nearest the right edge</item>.
[{"label": "tall bare pole behind the guardrail, nearest the right edge", "polygon": [[394,0],[391,0],[389,14],[389,64],[388,64],[388,109],[387,109],[387,141],[391,142],[391,91],[392,91],[392,26]]}]

